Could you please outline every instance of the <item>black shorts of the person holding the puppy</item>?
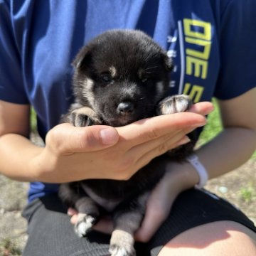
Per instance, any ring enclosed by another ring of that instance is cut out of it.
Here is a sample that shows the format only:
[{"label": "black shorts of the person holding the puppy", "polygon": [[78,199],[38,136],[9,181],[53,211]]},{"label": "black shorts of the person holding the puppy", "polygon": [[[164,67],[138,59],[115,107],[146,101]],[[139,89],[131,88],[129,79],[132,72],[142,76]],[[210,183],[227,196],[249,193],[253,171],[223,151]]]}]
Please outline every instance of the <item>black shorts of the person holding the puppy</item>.
[{"label": "black shorts of the person holding the puppy", "polygon": [[[67,208],[58,196],[39,198],[23,211],[28,220],[28,242],[23,256],[109,255],[110,235],[92,231],[78,238]],[[158,255],[161,248],[185,230],[218,220],[233,220],[256,232],[255,225],[230,203],[210,193],[189,190],[176,199],[169,218],[148,243],[137,243],[137,255]]]}]

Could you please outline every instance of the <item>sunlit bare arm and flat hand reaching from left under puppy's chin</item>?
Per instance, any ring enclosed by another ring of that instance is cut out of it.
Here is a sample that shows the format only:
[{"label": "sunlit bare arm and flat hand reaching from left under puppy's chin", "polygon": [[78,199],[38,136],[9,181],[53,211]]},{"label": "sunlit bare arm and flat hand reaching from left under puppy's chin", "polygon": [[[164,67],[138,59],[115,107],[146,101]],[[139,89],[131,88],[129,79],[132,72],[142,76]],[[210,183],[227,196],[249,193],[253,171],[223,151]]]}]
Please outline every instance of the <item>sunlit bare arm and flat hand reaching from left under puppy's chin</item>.
[{"label": "sunlit bare arm and flat hand reaching from left under puppy's chin", "polygon": [[27,139],[29,106],[0,102],[1,173],[19,181],[48,183],[128,179],[154,157],[188,142],[186,134],[206,124],[204,115],[213,106],[198,105],[194,112],[142,119],[125,127],[59,124],[40,147]]}]

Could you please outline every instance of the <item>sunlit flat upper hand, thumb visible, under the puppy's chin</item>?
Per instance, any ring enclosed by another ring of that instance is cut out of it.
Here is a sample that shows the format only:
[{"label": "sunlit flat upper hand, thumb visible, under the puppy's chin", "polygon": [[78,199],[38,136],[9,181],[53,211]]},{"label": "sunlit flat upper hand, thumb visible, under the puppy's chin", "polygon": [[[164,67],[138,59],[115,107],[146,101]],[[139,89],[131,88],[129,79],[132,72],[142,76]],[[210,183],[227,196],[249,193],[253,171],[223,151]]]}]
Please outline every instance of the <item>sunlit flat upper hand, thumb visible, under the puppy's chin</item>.
[{"label": "sunlit flat upper hand, thumb visible, under the puppy's chin", "polygon": [[193,112],[142,119],[124,127],[59,124],[36,157],[37,180],[63,183],[85,178],[125,180],[156,156],[188,142],[186,134],[206,123],[210,102]]}]

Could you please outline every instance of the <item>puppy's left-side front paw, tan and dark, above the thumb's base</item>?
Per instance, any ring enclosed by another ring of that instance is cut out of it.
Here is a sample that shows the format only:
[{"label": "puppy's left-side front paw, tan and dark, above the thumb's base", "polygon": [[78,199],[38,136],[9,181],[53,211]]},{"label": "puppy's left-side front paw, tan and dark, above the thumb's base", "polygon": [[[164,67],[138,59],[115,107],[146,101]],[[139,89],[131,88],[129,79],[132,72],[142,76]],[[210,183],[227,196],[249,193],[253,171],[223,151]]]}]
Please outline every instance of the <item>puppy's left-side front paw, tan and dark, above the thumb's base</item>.
[{"label": "puppy's left-side front paw, tan and dark, above the thumb's base", "polygon": [[70,122],[75,127],[86,127],[95,124],[101,124],[100,118],[89,107],[80,107],[70,113]]}]

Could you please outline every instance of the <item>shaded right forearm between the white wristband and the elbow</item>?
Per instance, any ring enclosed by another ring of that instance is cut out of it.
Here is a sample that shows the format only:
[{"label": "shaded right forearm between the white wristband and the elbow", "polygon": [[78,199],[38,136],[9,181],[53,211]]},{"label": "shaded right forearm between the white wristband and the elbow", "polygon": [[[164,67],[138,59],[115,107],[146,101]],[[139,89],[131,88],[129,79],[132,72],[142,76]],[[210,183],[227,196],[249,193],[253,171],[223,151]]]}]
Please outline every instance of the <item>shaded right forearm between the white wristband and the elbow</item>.
[{"label": "shaded right forearm between the white wristband and the elbow", "polygon": [[196,151],[209,178],[223,175],[250,159],[255,151],[256,133],[252,129],[230,127]]}]

